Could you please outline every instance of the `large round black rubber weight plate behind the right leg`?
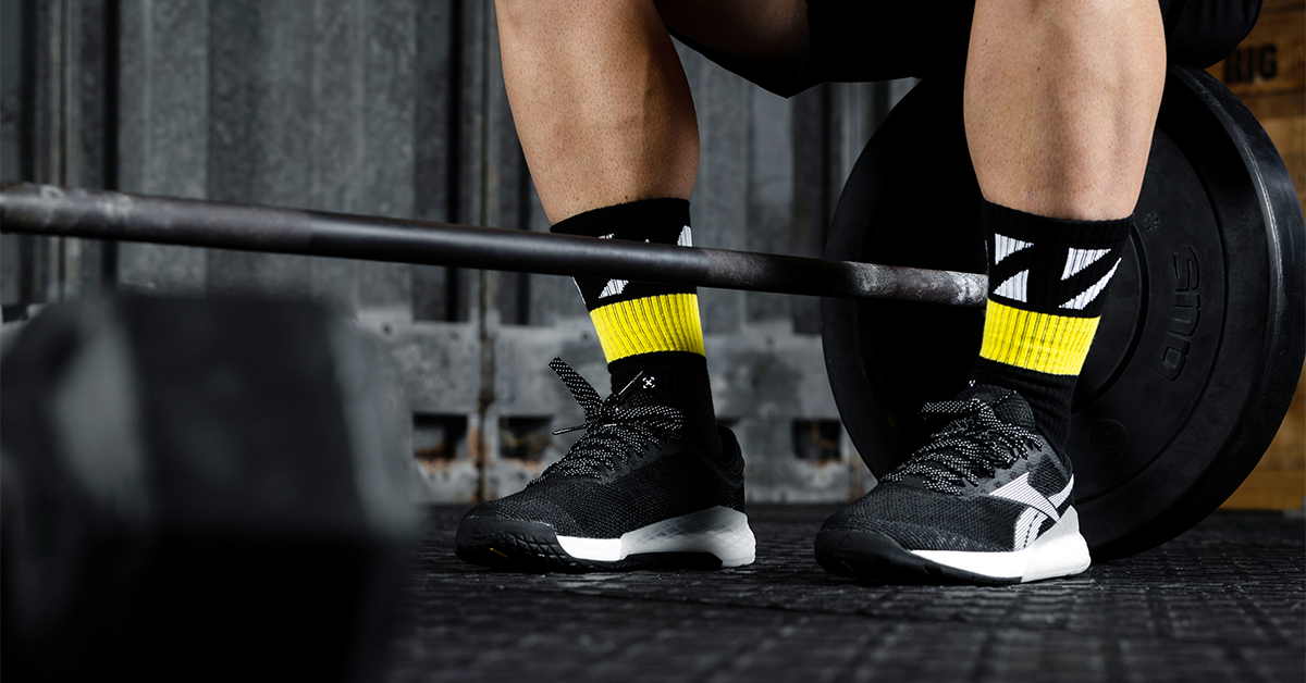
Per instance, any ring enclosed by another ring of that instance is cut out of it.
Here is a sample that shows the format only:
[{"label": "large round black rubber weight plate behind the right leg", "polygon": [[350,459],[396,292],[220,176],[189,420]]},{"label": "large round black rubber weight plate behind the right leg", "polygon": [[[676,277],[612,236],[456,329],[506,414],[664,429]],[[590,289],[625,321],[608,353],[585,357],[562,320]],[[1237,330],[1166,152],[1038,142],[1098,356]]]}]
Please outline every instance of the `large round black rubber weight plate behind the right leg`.
[{"label": "large round black rubber weight plate behind the right leg", "polygon": [[[961,84],[922,82],[853,168],[828,259],[982,273]],[[1157,546],[1260,460],[1306,354],[1306,225],[1264,131],[1205,72],[1170,69],[1135,229],[1075,390],[1070,456],[1094,559]],[[825,363],[876,475],[966,383],[982,310],[827,299]]]}]

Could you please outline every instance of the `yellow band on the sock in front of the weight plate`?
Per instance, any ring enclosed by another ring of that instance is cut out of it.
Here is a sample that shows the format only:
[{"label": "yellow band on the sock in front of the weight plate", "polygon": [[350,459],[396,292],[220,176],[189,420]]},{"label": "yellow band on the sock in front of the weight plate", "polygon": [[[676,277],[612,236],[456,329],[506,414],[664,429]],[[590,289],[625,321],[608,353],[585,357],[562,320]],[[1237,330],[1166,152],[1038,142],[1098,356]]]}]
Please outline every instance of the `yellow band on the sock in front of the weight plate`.
[{"label": "yellow band on the sock in front of the weight plate", "polygon": [[980,357],[1049,375],[1079,375],[1100,320],[1021,311],[989,299]]}]

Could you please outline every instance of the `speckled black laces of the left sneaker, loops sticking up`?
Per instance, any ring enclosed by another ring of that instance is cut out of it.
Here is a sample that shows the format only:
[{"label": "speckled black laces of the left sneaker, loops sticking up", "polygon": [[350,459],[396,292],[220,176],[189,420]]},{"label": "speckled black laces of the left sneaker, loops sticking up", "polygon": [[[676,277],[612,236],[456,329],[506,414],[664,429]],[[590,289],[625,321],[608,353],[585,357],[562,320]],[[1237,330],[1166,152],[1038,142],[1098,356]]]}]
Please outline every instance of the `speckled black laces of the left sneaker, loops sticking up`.
[{"label": "speckled black laces of the left sneaker, loops sticking up", "polygon": [[[679,431],[684,426],[684,414],[670,406],[648,405],[639,401],[637,394],[628,392],[641,375],[631,380],[622,390],[599,400],[594,387],[585,381],[560,358],[554,358],[549,367],[558,373],[576,402],[585,410],[585,422],[554,435],[585,430],[562,460],[554,462],[530,483],[537,483],[551,475],[598,477],[605,470],[626,461],[631,452],[640,452],[656,445],[661,435]],[[639,389],[636,389],[639,390]]]}]

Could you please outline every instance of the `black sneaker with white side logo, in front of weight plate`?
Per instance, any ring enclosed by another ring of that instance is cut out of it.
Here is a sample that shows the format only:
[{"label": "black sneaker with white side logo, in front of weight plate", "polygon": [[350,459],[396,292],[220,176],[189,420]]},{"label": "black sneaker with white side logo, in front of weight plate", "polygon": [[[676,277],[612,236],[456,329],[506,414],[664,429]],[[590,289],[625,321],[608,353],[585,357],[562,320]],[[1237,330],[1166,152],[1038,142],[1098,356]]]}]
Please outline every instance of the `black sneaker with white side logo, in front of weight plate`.
[{"label": "black sneaker with white side logo, in front of weight plate", "polygon": [[825,521],[816,562],[879,581],[1017,584],[1088,568],[1075,477],[1016,392],[977,384],[922,417],[953,418]]}]

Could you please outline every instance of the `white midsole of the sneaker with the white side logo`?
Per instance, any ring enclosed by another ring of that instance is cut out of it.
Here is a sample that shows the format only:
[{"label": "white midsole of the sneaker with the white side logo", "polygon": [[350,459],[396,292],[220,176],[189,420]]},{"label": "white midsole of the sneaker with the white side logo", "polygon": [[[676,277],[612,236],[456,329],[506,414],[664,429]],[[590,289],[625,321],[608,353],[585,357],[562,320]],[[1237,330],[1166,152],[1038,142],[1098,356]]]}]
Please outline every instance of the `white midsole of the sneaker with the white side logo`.
[{"label": "white midsole of the sneaker with the white side logo", "polygon": [[930,562],[996,579],[1037,581],[1070,576],[1088,569],[1088,543],[1079,533],[1079,513],[1066,515],[1024,550],[1011,552],[965,552],[960,550],[913,550]]}]

